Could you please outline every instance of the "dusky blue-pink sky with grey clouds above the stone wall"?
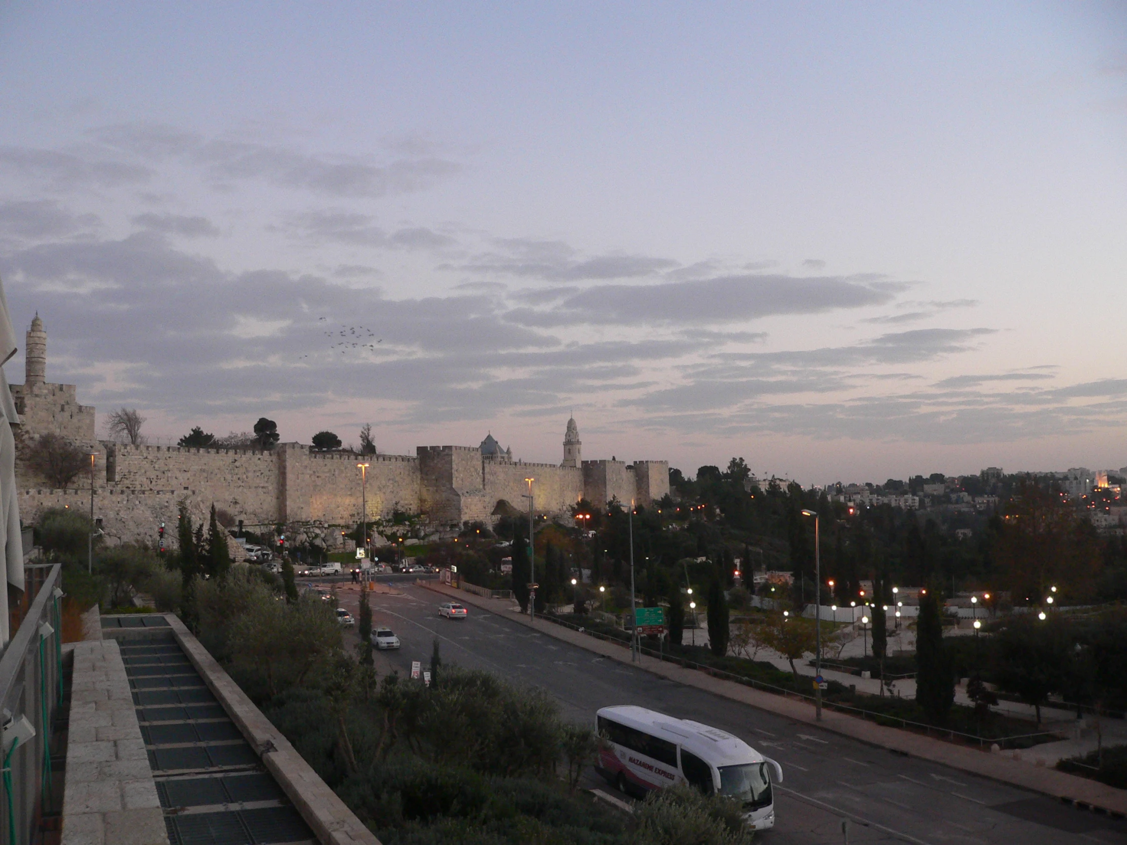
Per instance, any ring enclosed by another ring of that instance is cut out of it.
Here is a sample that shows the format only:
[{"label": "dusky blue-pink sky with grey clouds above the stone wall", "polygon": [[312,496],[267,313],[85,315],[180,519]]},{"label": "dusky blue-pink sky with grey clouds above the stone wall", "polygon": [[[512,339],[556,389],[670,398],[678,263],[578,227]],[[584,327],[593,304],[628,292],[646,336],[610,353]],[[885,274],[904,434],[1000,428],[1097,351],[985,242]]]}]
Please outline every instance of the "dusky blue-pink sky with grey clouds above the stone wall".
[{"label": "dusky blue-pink sky with grey clouds above the stone wall", "polygon": [[154,443],[1120,468],[1127,6],[10,1],[0,278]]}]

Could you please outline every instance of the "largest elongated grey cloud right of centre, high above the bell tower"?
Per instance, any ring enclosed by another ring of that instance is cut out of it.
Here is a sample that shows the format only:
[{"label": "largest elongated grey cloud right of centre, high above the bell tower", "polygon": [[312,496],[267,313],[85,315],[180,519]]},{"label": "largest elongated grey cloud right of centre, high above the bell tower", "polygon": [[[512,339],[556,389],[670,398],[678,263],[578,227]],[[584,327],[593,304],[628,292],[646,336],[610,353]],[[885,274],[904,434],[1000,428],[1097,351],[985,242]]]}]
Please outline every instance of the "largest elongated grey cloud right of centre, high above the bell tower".
[{"label": "largest elongated grey cloud right of centre, high above the bell tower", "polygon": [[878,305],[891,299],[890,293],[844,277],[744,275],[651,285],[595,285],[552,308],[517,308],[507,317],[515,323],[545,327],[715,324]]}]

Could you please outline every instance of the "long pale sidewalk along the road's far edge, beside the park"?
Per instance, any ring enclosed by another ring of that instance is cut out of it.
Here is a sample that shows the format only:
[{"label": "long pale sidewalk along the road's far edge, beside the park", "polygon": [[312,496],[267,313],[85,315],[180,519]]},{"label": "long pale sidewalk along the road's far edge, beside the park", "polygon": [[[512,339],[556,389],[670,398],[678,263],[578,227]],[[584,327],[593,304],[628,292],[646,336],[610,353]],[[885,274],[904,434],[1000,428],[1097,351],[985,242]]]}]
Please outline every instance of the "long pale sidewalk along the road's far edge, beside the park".
[{"label": "long pale sidewalk along the road's far edge, beside the park", "polygon": [[[564,628],[552,622],[538,620],[533,623],[527,616],[514,612],[514,605],[511,601],[482,598],[471,593],[453,589],[432,581],[417,581],[416,586],[456,597],[462,604],[496,613],[525,626],[533,628],[553,639],[569,642],[573,646],[622,664],[630,664],[630,652],[627,648],[618,643],[588,637],[587,634],[573,631],[569,628]],[[983,753],[965,746],[912,733],[906,730],[885,728],[873,722],[829,710],[824,710],[823,720],[817,722],[815,720],[814,706],[806,701],[774,695],[731,681],[721,681],[703,671],[686,669],[671,662],[663,662],[657,658],[645,655],[640,657],[640,662],[635,665],[685,686],[696,687],[713,695],[738,701],[797,722],[817,726],[868,745],[907,754],[920,759],[950,766],[961,772],[990,777],[1032,792],[1059,798],[1064,801],[1099,808],[1116,815],[1127,815],[1127,791],[1117,790],[1097,781],[1076,777],[1064,772],[1057,772],[1053,768],[1031,765],[1030,763],[1022,762],[1020,756],[1014,758],[1011,753]]]}]

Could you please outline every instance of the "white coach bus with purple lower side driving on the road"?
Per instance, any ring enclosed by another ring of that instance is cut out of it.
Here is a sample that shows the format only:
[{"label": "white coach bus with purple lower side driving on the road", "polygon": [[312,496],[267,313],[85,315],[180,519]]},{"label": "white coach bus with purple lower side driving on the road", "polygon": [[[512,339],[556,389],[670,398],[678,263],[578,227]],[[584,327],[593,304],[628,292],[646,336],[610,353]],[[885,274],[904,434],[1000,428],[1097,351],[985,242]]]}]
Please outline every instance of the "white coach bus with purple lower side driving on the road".
[{"label": "white coach bus with purple lower side driving on the road", "polygon": [[596,730],[609,739],[598,772],[621,792],[689,783],[708,794],[743,801],[754,830],[774,827],[771,775],[782,783],[782,766],[737,737],[700,722],[675,719],[632,705],[603,708]]}]

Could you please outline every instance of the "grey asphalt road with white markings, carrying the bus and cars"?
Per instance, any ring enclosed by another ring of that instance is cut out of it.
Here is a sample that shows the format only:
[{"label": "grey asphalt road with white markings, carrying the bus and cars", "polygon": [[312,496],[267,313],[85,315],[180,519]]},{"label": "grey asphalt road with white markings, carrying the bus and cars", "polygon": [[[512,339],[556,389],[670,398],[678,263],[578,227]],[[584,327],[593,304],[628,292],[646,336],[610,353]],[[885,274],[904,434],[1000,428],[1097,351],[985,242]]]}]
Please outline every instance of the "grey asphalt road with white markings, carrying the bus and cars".
[{"label": "grey asphalt road with white markings, carrying the bus and cars", "polygon": [[[710,693],[658,678],[470,607],[469,619],[437,615],[438,594],[407,584],[399,596],[372,597],[374,624],[402,642],[383,652],[381,670],[409,674],[426,666],[438,638],[444,662],[489,669],[514,682],[549,690],[564,714],[592,722],[598,708],[639,704],[713,724],[740,737],[782,765],[772,845],[842,843],[1127,843],[1127,822],[1077,810],[943,766],[824,732]],[[337,585],[354,614],[358,592]],[[589,785],[614,792],[597,775]]]}]

